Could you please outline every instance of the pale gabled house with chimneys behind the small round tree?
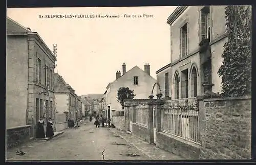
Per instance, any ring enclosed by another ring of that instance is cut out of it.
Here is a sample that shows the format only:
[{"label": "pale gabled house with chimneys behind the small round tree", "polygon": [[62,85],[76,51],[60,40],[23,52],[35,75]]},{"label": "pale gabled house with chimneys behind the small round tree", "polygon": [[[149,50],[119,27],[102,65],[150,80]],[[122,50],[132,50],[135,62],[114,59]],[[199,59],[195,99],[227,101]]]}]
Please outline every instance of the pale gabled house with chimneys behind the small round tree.
[{"label": "pale gabled house with chimneys behind the small round tree", "polygon": [[[134,94],[136,95],[134,99],[148,99],[156,83],[156,80],[150,76],[149,64],[144,65],[144,70],[138,66],[134,66],[126,72],[125,64],[122,65],[122,69],[122,76],[120,71],[117,71],[116,80],[108,84],[105,92],[106,116],[112,120],[114,125],[116,124],[115,120],[113,120],[114,116],[124,116],[124,110],[120,103],[117,102],[118,89],[120,87],[129,87],[129,89],[134,90]],[[156,96],[156,88],[154,88],[153,95]]]}]

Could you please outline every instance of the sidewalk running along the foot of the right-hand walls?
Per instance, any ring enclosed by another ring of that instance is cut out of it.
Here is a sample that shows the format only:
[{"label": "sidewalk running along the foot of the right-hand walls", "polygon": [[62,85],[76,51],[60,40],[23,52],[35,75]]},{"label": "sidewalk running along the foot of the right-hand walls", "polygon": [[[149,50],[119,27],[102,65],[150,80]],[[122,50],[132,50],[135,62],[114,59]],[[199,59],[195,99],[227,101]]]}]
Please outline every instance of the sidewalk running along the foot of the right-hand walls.
[{"label": "sidewalk running along the foot of the right-hand walls", "polygon": [[170,153],[168,151],[164,151],[155,147],[154,145],[148,144],[143,141],[140,137],[133,135],[129,132],[120,131],[116,128],[109,129],[114,134],[119,135],[123,139],[127,141],[127,143],[132,144],[135,148],[143,152],[145,155],[150,157],[153,160],[184,160],[185,158]]}]

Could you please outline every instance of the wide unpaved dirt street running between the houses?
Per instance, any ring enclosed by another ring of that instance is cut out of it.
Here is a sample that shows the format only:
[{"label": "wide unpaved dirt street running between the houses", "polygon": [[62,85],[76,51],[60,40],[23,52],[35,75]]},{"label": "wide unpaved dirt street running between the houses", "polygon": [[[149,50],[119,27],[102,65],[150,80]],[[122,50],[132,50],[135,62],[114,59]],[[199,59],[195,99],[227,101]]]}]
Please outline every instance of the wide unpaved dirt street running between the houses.
[{"label": "wide unpaved dirt street running between the houses", "polygon": [[[120,135],[119,135],[120,134]],[[129,137],[127,137],[129,136]],[[84,121],[78,129],[67,129],[52,140],[34,140],[7,152],[8,160],[154,160],[183,159],[167,151],[141,143],[131,134],[96,128],[94,120]],[[130,140],[129,140],[130,139]],[[137,149],[138,148],[138,149]],[[23,151],[23,156],[16,151]],[[147,150],[145,152],[144,150]],[[161,153],[158,155],[158,153]],[[104,155],[104,156],[103,156]]]}]

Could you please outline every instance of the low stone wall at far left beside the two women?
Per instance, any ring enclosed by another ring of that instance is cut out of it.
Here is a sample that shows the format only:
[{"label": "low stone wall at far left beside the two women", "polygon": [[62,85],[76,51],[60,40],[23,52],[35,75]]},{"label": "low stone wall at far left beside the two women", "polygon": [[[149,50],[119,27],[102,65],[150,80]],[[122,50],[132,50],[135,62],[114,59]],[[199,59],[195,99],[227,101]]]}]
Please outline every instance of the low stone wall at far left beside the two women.
[{"label": "low stone wall at far left beside the two women", "polygon": [[30,140],[30,125],[8,128],[6,130],[7,148],[15,147]]}]

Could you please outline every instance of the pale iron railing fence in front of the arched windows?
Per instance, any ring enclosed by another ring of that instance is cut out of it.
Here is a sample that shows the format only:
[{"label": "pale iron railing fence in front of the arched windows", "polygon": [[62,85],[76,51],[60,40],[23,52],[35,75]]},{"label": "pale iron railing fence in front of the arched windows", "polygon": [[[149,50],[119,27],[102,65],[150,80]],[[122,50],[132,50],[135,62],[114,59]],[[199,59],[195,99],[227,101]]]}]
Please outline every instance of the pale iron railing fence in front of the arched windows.
[{"label": "pale iron railing fence in front of the arched windows", "polygon": [[161,131],[201,144],[197,99],[165,101],[161,105]]}]

